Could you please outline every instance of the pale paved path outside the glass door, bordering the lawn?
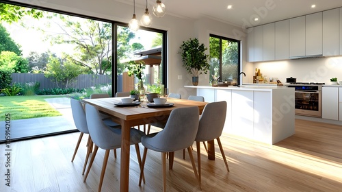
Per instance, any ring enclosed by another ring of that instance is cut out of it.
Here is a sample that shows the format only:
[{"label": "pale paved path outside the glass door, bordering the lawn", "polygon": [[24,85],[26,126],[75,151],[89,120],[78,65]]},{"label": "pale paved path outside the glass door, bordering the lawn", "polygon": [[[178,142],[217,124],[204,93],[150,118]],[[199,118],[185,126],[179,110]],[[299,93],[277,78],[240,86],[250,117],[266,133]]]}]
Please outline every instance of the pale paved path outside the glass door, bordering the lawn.
[{"label": "pale paved path outside the glass door, bordering the lawn", "polygon": [[[70,108],[70,98],[58,97],[45,99],[53,108],[62,113],[58,117],[40,117],[11,121],[11,139],[31,137],[54,132],[75,130],[73,115]],[[5,140],[5,121],[0,121],[0,142]]]}]

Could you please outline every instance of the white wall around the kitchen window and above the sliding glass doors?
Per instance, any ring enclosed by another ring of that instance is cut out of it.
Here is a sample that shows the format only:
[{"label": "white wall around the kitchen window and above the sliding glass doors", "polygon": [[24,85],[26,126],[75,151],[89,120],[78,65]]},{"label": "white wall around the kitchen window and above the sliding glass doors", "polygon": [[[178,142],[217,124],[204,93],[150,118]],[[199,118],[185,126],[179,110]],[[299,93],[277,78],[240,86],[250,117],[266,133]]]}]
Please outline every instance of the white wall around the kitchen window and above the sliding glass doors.
[{"label": "white wall around the kitchen window and above the sliding glass doors", "polygon": [[[52,8],[55,10],[63,10],[88,16],[95,16],[102,19],[110,19],[128,23],[133,15],[133,1],[122,1],[127,3],[119,3],[111,0],[16,0],[22,3],[30,3],[44,8]],[[144,7],[136,5],[135,14],[137,18],[142,16]],[[185,85],[192,85],[192,77],[187,74],[182,66],[179,47],[184,40],[189,38],[198,38],[200,43],[205,43],[209,48],[209,34],[226,36],[241,40],[242,47],[246,46],[246,34],[243,29],[235,25],[213,21],[212,19],[199,19],[193,21],[181,16],[171,16],[168,13],[162,18],[153,18],[152,28],[163,29],[168,32],[168,88],[172,93],[181,93],[182,98],[189,95],[196,95],[194,89],[185,89]],[[208,51],[209,53],[209,51]],[[243,52],[243,56],[246,51]],[[246,58],[242,58],[243,66],[246,66]],[[248,68],[246,66],[245,68]],[[182,79],[178,80],[179,75]],[[200,85],[209,85],[209,74],[200,76]]]}]

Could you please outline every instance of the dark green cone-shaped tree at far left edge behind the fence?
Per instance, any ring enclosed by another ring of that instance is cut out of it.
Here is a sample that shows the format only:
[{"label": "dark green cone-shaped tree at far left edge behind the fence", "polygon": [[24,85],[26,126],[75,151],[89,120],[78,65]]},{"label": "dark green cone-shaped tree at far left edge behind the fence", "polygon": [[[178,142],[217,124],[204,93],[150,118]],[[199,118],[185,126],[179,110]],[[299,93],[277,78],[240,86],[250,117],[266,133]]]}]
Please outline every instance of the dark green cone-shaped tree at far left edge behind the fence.
[{"label": "dark green cone-shaped tree at far left edge behind the fence", "polygon": [[0,52],[1,51],[12,51],[16,53],[17,56],[21,56],[20,46],[14,42],[5,27],[0,24]]}]

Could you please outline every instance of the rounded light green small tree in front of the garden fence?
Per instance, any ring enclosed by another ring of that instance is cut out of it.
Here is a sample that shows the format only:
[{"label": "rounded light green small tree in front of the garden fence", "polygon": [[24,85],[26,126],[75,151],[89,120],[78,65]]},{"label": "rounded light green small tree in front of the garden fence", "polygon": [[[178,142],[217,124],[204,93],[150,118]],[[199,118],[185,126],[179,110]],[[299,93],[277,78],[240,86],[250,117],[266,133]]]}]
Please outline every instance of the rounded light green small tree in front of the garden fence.
[{"label": "rounded light green small tree in front of the garden fence", "polygon": [[79,67],[68,58],[59,59],[50,56],[44,76],[51,77],[57,84],[57,87],[68,88],[70,84],[75,82],[76,77],[83,72],[83,67]]}]

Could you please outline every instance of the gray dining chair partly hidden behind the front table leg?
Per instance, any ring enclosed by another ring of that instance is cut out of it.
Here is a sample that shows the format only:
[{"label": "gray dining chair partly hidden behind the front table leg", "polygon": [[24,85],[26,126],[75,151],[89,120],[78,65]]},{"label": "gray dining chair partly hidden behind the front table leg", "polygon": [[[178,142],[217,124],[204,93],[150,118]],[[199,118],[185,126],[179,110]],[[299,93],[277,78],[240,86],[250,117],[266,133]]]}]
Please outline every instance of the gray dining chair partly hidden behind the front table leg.
[{"label": "gray dining chair partly hidden behind the front table leg", "polygon": [[[94,162],[96,153],[98,151],[98,147],[100,147],[101,149],[105,149],[105,156],[103,159],[100,183],[98,184],[98,191],[101,191],[103,178],[105,176],[105,169],[107,167],[109,151],[111,149],[118,149],[121,147],[121,129],[111,128],[108,125],[105,125],[105,123],[103,123],[101,119],[101,115],[98,112],[98,110],[90,104],[86,104],[86,119],[89,134],[92,137],[92,141],[94,142],[95,147],[83,182],[86,182],[90,169],[92,168],[92,163]],[[120,127],[120,125],[118,125],[118,127]],[[131,128],[130,144],[135,145],[135,149],[137,152],[137,162],[139,164],[139,167],[141,167],[142,165],[139,143],[141,141],[142,136],[144,135],[144,132]]]}]

